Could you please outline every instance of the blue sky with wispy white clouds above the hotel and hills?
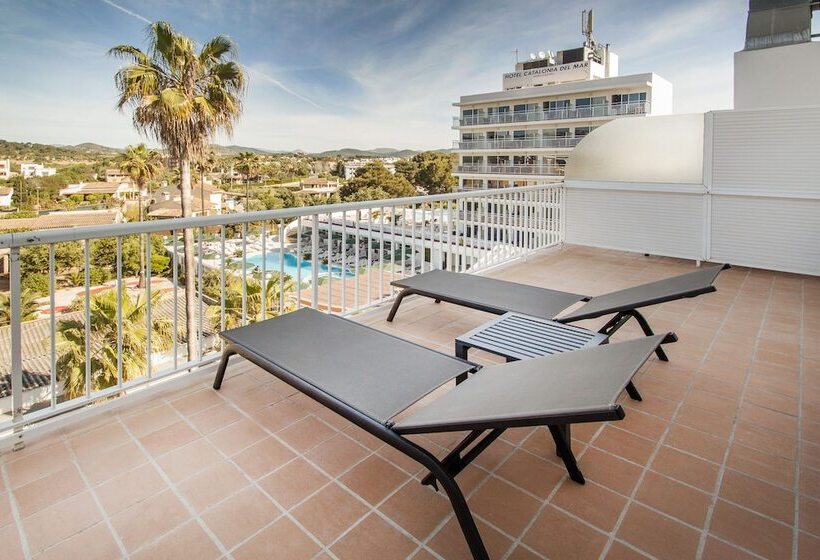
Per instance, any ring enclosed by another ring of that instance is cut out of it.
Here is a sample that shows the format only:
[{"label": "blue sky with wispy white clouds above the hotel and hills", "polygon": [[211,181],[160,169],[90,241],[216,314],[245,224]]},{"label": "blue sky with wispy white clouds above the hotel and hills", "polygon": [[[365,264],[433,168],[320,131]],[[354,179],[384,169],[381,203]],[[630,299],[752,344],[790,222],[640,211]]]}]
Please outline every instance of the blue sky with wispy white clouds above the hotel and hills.
[{"label": "blue sky with wispy white clouds above the hotel and hills", "polygon": [[676,113],[731,108],[746,0],[0,0],[0,138],[145,141],[114,107],[121,63],[106,52],[145,47],[147,24],[164,20],[199,44],[238,45],[244,111],[220,144],[447,148],[453,102],[500,90],[515,49],[581,46],[588,8],[621,75],[671,81]]}]

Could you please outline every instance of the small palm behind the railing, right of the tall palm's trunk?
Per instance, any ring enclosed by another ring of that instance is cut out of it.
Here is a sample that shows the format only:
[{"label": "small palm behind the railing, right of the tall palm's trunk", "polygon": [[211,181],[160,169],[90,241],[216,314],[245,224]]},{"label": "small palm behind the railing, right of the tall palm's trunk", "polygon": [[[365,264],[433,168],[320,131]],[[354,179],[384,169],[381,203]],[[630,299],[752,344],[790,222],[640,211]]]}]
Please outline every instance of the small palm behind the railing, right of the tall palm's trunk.
[{"label": "small palm behind the railing, right of the tall palm's trunk", "polygon": [[[279,290],[279,273],[274,272],[265,284],[264,297],[262,281],[249,276],[245,287],[245,310],[248,323],[261,321],[264,317],[275,317],[284,313],[289,313],[296,309],[296,300],[293,295],[296,283],[288,275],[285,275],[284,290]],[[280,309],[279,294],[285,295],[285,306]],[[263,314],[263,308],[265,313]],[[218,325],[221,319],[221,308],[214,305],[208,308],[208,317]],[[228,276],[225,279],[225,328],[232,329],[242,325],[242,278],[236,275]]]}]

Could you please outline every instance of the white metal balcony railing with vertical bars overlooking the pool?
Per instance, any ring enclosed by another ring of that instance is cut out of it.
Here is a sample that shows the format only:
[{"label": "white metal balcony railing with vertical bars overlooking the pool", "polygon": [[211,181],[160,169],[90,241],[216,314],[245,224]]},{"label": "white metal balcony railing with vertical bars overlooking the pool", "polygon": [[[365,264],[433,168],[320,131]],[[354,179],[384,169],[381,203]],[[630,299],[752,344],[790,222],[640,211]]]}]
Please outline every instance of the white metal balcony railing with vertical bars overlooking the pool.
[{"label": "white metal balcony railing with vertical bars overlooking the pool", "polygon": [[[476,272],[556,245],[562,197],[539,185],[0,235],[10,265],[0,433],[209,363],[225,328],[302,306],[360,311],[391,299],[402,276]],[[47,293],[32,309],[21,287],[37,274]]]}]

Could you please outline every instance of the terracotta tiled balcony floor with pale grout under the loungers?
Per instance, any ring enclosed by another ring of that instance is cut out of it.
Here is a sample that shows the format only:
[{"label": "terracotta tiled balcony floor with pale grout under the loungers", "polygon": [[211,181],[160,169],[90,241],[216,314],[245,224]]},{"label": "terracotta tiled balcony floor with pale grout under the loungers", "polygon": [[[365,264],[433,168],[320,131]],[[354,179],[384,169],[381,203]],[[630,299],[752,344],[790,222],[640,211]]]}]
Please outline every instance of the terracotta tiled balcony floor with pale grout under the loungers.
[{"label": "terracotta tiled balcony floor with pale grout under the loungers", "polygon": [[[570,247],[498,276],[596,294],[692,266]],[[543,428],[459,476],[493,558],[820,557],[820,278],[734,268],[717,285],[648,310],[680,342],[625,420],[574,429],[585,486]],[[448,352],[489,318],[429,300],[385,314],[362,321]],[[467,557],[417,465],[254,366],[229,375],[4,455],[2,557]]]}]

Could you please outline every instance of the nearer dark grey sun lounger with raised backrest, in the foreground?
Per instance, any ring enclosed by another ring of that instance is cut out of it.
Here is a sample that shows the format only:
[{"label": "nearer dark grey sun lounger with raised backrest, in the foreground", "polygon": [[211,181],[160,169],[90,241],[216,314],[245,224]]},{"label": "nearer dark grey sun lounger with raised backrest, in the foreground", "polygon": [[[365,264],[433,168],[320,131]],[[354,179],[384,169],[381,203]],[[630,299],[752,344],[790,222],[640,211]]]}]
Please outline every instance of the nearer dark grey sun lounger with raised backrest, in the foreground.
[{"label": "nearer dark grey sun lounger with raised backrest, in the foreground", "polygon": [[[473,558],[486,560],[456,475],[507,428],[547,426],[570,477],[583,483],[570,425],[622,419],[618,396],[666,335],[483,369],[308,308],[221,336],[228,346],[214,389],[222,385],[228,358],[239,354],[417,461],[430,471],[424,482],[447,493]],[[413,407],[468,372],[475,375]],[[405,437],[465,430],[443,459]]]}]

